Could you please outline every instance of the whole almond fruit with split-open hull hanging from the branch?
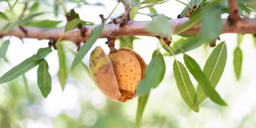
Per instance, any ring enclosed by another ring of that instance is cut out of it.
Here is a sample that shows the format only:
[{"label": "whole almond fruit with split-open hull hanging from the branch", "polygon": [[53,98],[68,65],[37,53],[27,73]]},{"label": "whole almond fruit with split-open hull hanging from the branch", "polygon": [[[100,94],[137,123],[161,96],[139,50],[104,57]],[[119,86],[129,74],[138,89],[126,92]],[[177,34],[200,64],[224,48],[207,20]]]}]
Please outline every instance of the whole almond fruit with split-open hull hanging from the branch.
[{"label": "whole almond fruit with split-open hull hanging from the branch", "polygon": [[89,69],[99,90],[113,101],[127,102],[136,97],[136,88],[143,79],[147,64],[130,48],[110,51],[100,46],[91,53]]}]

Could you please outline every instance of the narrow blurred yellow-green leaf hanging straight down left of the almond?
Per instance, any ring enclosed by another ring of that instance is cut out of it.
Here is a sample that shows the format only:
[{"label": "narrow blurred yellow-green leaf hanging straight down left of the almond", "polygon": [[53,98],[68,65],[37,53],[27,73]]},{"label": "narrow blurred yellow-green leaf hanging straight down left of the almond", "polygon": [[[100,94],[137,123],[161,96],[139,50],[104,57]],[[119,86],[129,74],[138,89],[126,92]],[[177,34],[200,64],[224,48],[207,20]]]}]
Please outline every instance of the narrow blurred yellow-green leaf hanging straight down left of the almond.
[{"label": "narrow blurred yellow-green leaf hanging straight down left of the almond", "polygon": [[57,49],[58,49],[58,56],[59,56],[58,76],[59,76],[59,83],[63,91],[66,85],[66,79],[68,78],[68,70],[66,66],[66,56],[65,56],[64,49],[61,42],[57,44]]}]

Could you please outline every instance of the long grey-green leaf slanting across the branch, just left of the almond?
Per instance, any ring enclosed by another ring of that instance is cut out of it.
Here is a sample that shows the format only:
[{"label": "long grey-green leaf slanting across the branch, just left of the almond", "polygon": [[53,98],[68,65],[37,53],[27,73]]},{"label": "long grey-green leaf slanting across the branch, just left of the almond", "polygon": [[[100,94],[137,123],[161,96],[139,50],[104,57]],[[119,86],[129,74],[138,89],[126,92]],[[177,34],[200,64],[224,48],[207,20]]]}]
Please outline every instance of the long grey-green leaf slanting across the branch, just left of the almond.
[{"label": "long grey-green leaf slanting across the branch, just left of the almond", "polygon": [[87,54],[87,52],[92,48],[96,40],[99,38],[101,32],[103,31],[103,28],[104,28],[104,24],[101,24],[92,30],[90,34],[90,38],[82,45],[75,59],[73,60],[71,71],[74,70],[74,68],[82,61],[82,59]]}]

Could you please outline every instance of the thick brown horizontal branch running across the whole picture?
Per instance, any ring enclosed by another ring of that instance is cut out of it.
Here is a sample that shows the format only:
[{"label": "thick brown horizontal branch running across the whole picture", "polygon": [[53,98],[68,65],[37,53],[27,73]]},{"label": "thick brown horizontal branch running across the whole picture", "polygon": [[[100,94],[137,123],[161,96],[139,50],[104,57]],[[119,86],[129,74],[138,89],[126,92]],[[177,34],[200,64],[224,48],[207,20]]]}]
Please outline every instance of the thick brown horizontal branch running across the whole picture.
[{"label": "thick brown horizontal branch running across the whole picture", "polygon": [[[187,22],[189,18],[184,17],[180,19],[170,19],[170,23],[172,24],[174,31],[177,30],[180,25]],[[159,33],[150,33],[145,28],[147,23],[150,21],[133,21],[130,20],[126,26],[120,27],[120,24],[105,24],[103,32],[101,33],[99,38],[108,38],[108,37],[120,37],[126,35],[142,35],[142,36],[157,36]],[[99,24],[98,24],[99,25]],[[76,28],[73,29],[63,36],[62,40],[70,40],[74,43],[79,43],[87,40],[90,37],[90,33],[92,29],[98,25],[87,25],[85,28],[85,36],[81,36],[81,31]],[[181,32],[180,34],[199,34],[201,25],[197,25],[194,28],[191,28],[187,31]],[[171,29],[171,28],[170,28]],[[0,37],[3,36],[16,36],[20,39],[22,38],[36,38],[39,40],[42,39],[50,39],[52,36],[54,39],[58,39],[60,36],[64,34],[64,28],[59,29],[40,29],[40,28],[32,28],[27,27],[27,34],[22,32],[21,29],[15,27],[14,29],[4,33],[0,32]],[[235,25],[229,25],[227,19],[222,19],[222,32],[221,33],[251,33],[256,34],[256,19],[241,19],[237,21]],[[175,34],[175,33],[174,33]]]}]

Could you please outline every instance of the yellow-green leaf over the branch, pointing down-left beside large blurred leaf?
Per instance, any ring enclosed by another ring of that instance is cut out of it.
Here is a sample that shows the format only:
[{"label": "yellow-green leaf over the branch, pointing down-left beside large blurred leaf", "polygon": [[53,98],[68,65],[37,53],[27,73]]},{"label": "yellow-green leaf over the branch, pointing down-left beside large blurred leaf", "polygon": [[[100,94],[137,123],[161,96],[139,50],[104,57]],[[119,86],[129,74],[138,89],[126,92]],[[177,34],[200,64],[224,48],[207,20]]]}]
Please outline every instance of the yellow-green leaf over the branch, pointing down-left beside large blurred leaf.
[{"label": "yellow-green leaf over the branch, pointing down-left beside large blurred leaf", "polygon": [[180,32],[193,28],[194,26],[201,23],[201,20],[202,20],[202,9],[199,9],[190,15],[189,20],[187,22],[180,25],[176,33],[178,34]]}]

